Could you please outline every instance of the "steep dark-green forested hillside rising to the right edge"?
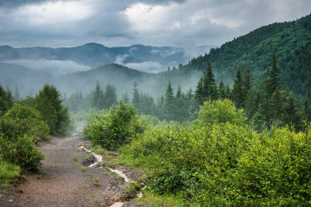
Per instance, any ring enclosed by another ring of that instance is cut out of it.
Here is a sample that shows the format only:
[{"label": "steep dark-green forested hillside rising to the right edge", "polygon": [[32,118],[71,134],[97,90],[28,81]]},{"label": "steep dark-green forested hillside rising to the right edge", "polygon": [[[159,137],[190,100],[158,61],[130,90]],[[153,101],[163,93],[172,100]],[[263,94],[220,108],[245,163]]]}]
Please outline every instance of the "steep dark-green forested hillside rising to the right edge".
[{"label": "steep dark-green forested hillside rising to the right edge", "polygon": [[[284,87],[295,94],[305,95],[311,86],[310,37],[311,15],[296,21],[269,24],[227,42],[220,48],[211,49],[209,54],[193,58],[182,67],[182,73],[205,71],[210,62],[216,81],[223,79],[231,84],[237,66],[243,72],[248,65],[254,79],[260,81],[275,52]],[[176,75],[180,73],[175,72]]]}]

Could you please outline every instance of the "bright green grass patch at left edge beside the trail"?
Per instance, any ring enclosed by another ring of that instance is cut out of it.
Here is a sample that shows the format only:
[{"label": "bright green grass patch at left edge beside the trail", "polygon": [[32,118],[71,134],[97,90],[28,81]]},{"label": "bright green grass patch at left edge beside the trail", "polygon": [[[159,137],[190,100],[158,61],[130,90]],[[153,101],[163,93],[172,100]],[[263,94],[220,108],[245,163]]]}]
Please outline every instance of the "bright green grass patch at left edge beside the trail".
[{"label": "bright green grass patch at left edge beside the trail", "polygon": [[13,182],[19,177],[20,172],[18,165],[0,159],[0,184]]}]

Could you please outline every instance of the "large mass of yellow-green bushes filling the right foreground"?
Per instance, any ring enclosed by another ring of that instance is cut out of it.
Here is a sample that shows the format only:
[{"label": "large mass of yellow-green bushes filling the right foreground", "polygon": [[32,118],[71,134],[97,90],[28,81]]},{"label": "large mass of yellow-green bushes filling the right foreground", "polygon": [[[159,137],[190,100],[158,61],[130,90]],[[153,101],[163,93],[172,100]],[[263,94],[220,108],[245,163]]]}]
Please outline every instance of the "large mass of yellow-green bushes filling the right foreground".
[{"label": "large mass of yellow-green bushes filling the right foreground", "polygon": [[308,206],[311,124],[258,133],[241,123],[149,130],[120,157],[146,169],[152,192],[199,206]]}]

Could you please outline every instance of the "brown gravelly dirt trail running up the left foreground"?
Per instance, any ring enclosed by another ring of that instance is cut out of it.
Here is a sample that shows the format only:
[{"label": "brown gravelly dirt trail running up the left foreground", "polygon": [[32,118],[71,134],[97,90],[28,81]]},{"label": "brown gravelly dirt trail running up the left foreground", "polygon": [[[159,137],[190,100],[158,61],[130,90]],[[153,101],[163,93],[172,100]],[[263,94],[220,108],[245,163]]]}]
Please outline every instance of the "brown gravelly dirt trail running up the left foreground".
[{"label": "brown gravelly dirt trail running up the left foreground", "polygon": [[88,167],[92,158],[78,148],[85,143],[81,127],[67,139],[51,136],[40,146],[46,155],[40,176],[26,174],[13,195],[0,195],[0,206],[110,206],[124,201],[120,193],[128,184],[107,167]]}]

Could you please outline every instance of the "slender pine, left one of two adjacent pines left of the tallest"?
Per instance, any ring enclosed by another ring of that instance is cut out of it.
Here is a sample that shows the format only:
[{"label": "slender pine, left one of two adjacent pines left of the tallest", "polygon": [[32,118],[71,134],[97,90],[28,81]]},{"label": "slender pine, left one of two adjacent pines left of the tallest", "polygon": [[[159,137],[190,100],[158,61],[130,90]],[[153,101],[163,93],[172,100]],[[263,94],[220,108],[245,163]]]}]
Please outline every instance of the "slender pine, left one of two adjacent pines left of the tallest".
[{"label": "slender pine, left one of two adjacent pines left of the tallest", "polygon": [[243,80],[241,76],[240,67],[238,66],[236,72],[236,79],[234,80],[234,84],[232,87],[232,99],[235,102],[237,108],[244,107],[245,94],[242,90]]}]

